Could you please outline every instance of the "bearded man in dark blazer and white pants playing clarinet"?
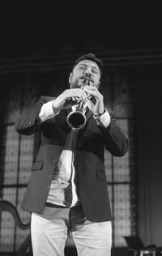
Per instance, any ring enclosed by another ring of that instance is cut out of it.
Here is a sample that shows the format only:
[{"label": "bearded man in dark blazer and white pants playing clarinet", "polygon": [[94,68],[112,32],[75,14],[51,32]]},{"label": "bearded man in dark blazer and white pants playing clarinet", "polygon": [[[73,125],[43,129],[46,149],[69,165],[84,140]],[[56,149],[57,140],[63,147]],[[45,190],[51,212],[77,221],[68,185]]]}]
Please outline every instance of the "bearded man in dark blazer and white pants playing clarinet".
[{"label": "bearded man in dark blazer and white pants playing clarinet", "polygon": [[[64,255],[70,231],[79,256],[111,254],[104,147],[113,156],[124,156],[128,141],[113,111],[104,108],[98,90],[101,74],[100,59],[93,53],[83,55],[70,73],[70,89],[57,98],[41,96],[15,123],[19,134],[41,132],[40,151],[21,206],[32,212],[34,256]],[[89,84],[81,89],[85,75]],[[86,101],[86,124],[75,129],[68,125],[67,115],[75,111],[79,99]]]}]

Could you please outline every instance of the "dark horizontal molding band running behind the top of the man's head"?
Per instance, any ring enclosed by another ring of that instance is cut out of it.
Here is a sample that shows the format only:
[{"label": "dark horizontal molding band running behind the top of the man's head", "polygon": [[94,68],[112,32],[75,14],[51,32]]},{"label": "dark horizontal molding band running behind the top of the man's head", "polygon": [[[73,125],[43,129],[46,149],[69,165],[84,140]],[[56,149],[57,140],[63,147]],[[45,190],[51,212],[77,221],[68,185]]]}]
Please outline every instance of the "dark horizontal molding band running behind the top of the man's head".
[{"label": "dark horizontal molding band running behind the top of the man's head", "polygon": [[[49,70],[70,70],[76,58],[84,53],[60,54],[30,58],[3,59],[0,74],[22,73]],[[162,63],[162,49],[141,49],[126,51],[107,51],[96,53],[104,66],[130,66]]]}]

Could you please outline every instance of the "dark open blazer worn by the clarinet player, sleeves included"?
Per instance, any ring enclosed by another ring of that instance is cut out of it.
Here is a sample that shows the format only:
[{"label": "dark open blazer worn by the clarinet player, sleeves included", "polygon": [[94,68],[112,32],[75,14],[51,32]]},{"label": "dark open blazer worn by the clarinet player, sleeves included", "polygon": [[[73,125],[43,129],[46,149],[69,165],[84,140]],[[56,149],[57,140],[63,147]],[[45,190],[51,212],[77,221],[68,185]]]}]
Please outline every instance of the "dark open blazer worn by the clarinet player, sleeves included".
[{"label": "dark open blazer worn by the clarinet player, sleeves included", "polygon": [[[53,100],[52,97],[41,96],[36,105],[32,105],[26,113],[15,122],[15,130],[19,134],[31,135],[41,132],[40,150],[32,167],[32,175],[28,189],[23,198],[21,208],[25,211],[40,213],[45,207],[49,188],[53,178],[54,165],[64,149],[70,127],[66,122],[68,110],[45,122],[36,122],[41,106]],[[104,147],[113,156],[124,156],[128,150],[128,140],[121,128],[117,126],[114,113],[109,127],[98,126],[87,110],[87,123],[79,130],[76,148],[75,169],[78,174],[79,198],[83,212],[88,220],[111,220],[109,194],[104,171]]]}]

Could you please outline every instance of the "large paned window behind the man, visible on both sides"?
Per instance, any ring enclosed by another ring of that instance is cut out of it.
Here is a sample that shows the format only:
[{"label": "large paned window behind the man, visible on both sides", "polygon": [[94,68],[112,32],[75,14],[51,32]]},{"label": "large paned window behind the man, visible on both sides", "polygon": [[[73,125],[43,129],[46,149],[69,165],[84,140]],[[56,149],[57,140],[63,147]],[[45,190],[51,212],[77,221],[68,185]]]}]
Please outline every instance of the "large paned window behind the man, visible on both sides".
[{"label": "large paned window behind the man, visible on both sides", "polygon": [[[53,90],[54,94],[68,86],[67,72],[46,70],[28,74],[7,74],[0,78],[1,99],[1,156],[0,197],[11,202],[19,211],[23,222],[30,214],[19,210],[31,174],[32,163],[39,146],[39,136],[20,136],[14,123],[19,114],[36,102],[41,94]],[[130,150],[122,158],[105,151],[105,168],[113,212],[113,246],[126,246],[124,236],[136,233],[136,198],[134,175],[134,104],[130,85],[118,74],[116,68],[105,67],[101,91],[105,105],[116,113],[117,122],[130,140]],[[16,251],[29,230],[20,230],[8,212],[2,212],[0,222],[0,251]]]}]

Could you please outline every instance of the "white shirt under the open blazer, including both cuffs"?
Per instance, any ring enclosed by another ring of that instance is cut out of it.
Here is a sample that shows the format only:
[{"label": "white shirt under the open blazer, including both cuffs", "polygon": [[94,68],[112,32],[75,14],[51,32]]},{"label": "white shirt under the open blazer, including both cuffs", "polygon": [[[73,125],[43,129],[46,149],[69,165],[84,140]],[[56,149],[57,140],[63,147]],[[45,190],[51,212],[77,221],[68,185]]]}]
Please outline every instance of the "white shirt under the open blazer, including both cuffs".
[{"label": "white shirt under the open blazer, including both cuffs", "polygon": [[[72,109],[74,110],[75,106]],[[41,122],[45,122],[55,117],[55,115],[53,113],[53,100],[45,103],[40,109],[39,117]],[[99,126],[109,126],[110,116],[107,110],[100,117],[94,118]],[[56,164],[54,169],[53,180],[47,198],[48,203],[65,207],[74,207],[79,203],[79,195],[75,185],[74,148],[72,146],[75,132],[77,132],[75,129],[71,130],[68,139],[66,139],[62,154],[59,157],[58,164]]]}]

